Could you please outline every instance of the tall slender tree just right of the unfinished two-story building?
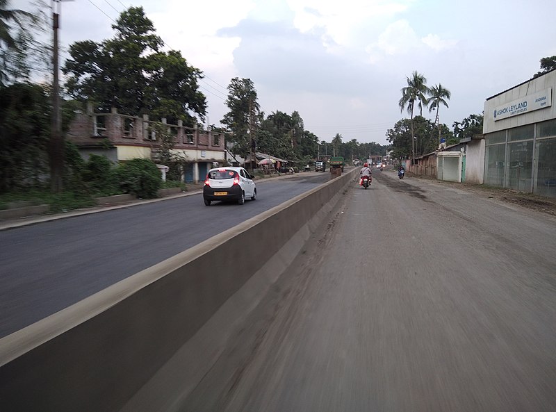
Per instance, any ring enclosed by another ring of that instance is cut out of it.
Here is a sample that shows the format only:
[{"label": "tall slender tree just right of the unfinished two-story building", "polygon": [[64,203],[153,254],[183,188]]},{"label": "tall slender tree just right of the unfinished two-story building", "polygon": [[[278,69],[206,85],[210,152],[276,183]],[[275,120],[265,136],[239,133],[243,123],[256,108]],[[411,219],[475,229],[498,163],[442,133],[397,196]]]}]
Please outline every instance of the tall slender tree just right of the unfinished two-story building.
[{"label": "tall slender tree just right of the unfinished two-story building", "polygon": [[227,141],[232,143],[231,152],[247,158],[251,150],[252,136],[256,139],[264,118],[253,81],[238,77],[231,79],[226,106],[229,111],[220,122],[226,125],[231,133],[227,138]]}]

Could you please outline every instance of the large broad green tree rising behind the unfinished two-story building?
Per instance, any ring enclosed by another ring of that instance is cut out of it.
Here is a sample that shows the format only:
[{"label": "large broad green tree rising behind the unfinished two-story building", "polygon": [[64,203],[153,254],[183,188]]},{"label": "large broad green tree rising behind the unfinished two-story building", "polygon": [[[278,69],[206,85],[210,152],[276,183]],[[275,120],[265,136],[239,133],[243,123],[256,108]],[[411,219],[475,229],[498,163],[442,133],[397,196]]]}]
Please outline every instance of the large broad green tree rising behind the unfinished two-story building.
[{"label": "large broad green tree rising behind the unfinished two-story building", "polygon": [[70,46],[63,67],[67,92],[95,101],[98,110],[112,107],[128,115],[166,117],[170,123],[195,124],[206,113],[197,81],[202,72],[188,65],[179,51],[161,51],[163,41],[142,7],[120,14],[115,36],[101,43],[86,40]]}]

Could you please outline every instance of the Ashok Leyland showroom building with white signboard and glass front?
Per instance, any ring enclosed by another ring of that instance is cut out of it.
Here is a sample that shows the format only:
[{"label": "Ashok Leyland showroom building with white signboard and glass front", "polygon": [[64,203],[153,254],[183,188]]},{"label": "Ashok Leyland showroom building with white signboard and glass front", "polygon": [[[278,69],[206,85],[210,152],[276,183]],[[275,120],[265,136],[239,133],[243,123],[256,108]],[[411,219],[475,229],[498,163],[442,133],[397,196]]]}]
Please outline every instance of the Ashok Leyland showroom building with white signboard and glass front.
[{"label": "Ashok Leyland showroom building with white signboard and glass front", "polygon": [[556,197],[556,70],[484,103],[484,184]]}]

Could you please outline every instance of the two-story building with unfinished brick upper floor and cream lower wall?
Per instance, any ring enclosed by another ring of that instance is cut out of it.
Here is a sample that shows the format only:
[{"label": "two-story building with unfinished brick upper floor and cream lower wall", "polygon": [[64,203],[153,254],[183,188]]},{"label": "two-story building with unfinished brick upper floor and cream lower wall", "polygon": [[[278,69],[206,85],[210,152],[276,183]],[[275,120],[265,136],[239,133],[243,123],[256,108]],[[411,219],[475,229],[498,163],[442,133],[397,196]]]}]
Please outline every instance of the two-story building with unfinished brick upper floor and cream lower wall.
[{"label": "two-story building with unfinished brick upper floor and cream lower wall", "polygon": [[122,163],[133,158],[150,158],[156,162],[159,140],[158,127],[167,127],[174,138],[172,151],[185,159],[182,171],[183,181],[201,181],[214,165],[226,162],[224,135],[202,129],[167,124],[165,119],[150,120],[148,115],[135,117],[117,113],[94,113],[88,105],[85,113],[76,117],[67,132],[67,139],[74,142],[85,160],[90,154],[106,156],[114,163]]}]

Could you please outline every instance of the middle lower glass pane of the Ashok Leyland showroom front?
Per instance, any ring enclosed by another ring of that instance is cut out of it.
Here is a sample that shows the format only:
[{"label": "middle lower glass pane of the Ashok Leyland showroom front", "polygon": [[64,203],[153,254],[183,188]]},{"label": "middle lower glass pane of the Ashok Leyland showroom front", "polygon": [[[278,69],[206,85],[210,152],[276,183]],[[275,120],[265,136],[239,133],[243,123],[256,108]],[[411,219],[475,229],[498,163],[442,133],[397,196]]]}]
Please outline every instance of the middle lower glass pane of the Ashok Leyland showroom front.
[{"label": "middle lower glass pane of the Ashok Leyland showroom front", "polygon": [[532,190],[533,142],[508,145],[508,187],[521,192]]}]

